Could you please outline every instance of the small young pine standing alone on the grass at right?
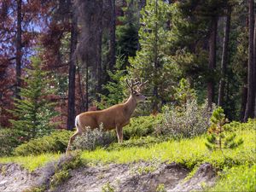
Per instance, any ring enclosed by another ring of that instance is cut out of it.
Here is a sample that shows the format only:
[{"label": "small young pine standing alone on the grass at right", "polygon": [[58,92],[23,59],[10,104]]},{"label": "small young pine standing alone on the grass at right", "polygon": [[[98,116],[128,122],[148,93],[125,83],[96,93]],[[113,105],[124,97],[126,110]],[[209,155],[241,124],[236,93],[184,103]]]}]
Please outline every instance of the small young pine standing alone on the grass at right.
[{"label": "small young pine standing alone on the grass at right", "polygon": [[231,127],[224,126],[227,122],[228,119],[225,118],[223,108],[216,108],[212,113],[211,126],[208,129],[210,135],[207,137],[207,148],[210,150],[237,148],[243,143],[241,138],[238,141],[235,141],[236,133],[229,133]]}]

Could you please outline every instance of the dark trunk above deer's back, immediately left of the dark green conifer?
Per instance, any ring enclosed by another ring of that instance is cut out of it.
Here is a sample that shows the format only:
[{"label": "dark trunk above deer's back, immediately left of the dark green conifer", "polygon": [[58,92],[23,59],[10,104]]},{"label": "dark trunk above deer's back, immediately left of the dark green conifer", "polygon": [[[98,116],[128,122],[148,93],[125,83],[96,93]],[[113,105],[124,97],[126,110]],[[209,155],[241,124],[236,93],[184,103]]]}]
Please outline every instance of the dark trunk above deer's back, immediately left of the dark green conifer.
[{"label": "dark trunk above deer's back, immediately left of the dark green conifer", "polygon": [[115,66],[115,0],[109,0],[109,4],[111,5],[109,70],[113,71]]}]

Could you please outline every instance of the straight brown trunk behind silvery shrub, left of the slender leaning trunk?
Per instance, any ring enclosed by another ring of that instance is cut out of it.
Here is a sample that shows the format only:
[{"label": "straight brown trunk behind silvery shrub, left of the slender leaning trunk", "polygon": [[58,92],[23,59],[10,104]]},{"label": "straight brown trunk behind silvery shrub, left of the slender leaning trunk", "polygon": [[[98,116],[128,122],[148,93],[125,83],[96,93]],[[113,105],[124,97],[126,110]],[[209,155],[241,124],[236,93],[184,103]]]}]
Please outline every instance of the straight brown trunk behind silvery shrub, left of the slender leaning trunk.
[{"label": "straight brown trunk behind silvery shrub, left of the slender leaning trunk", "polygon": [[[209,39],[209,65],[208,65],[212,73],[216,67],[217,30],[218,30],[218,16],[214,16],[212,17],[211,34]],[[208,99],[209,108],[212,108],[213,96],[214,96],[214,80],[212,78],[209,78],[207,82],[207,99]]]}]

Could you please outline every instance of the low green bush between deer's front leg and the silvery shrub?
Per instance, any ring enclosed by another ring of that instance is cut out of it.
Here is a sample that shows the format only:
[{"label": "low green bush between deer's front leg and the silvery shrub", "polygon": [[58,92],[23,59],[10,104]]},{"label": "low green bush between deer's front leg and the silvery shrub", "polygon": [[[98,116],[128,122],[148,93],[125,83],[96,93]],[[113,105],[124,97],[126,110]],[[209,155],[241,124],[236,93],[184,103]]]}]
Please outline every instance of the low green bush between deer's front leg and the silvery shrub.
[{"label": "low green bush between deer's front leg and the silvery shrub", "polygon": [[124,139],[146,137],[154,133],[154,128],[162,122],[162,115],[131,118],[130,125],[124,127]]}]

